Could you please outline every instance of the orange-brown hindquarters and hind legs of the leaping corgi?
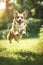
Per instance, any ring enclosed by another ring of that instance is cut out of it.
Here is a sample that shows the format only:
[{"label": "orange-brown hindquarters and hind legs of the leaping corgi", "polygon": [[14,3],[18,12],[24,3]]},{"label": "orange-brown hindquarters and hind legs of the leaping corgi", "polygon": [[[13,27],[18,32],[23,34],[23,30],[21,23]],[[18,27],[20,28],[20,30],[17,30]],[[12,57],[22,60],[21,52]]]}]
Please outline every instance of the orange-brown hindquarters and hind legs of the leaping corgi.
[{"label": "orange-brown hindquarters and hind legs of the leaping corgi", "polygon": [[16,36],[16,35],[14,35],[13,30],[10,29],[10,31],[9,31],[9,33],[7,35],[7,39],[10,41],[10,43],[11,43],[12,39],[15,39],[17,42],[19,42],[19,40],[21,38],[22,38],[22,31],[19,33],[18,36]]}]

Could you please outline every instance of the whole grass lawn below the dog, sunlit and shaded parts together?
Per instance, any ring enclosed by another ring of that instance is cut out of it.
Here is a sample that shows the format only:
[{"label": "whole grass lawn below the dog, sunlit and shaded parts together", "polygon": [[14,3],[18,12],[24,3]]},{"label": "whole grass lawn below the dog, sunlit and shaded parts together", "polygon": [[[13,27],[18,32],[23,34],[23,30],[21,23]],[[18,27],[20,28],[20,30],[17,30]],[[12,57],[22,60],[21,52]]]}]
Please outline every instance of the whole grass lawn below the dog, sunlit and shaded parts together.
[{"label": "whole grass lawn below the dog, sunlit and shaded parts together", "polygon": [[19,43],[0,40],[0,65],[43,65],[43,44],[39,39],[22,39]]}]

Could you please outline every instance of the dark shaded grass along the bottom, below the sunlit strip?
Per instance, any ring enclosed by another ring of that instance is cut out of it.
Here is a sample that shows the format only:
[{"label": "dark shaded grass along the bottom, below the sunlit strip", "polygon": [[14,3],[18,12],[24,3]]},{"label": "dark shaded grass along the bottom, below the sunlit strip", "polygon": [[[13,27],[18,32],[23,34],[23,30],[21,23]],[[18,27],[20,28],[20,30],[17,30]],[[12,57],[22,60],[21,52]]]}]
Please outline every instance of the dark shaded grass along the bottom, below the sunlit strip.
[{"label": "dark shaded grass along the bottom, below the sunlit strip", "polygon": [[43,65],[43,54],[34,52],[17,52],[18,59],[0,56],[0,65]]}]

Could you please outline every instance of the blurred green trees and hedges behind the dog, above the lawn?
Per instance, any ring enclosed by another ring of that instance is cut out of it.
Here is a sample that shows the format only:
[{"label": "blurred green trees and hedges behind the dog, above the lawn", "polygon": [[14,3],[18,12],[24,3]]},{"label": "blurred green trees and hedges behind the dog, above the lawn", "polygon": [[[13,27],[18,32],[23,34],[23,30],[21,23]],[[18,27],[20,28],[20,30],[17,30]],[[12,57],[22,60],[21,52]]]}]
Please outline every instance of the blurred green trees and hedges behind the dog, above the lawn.
[{"label": "blurred green trees and hedges behind the dog, above the lawn", "polygon": [[[6,39],[8,30],[13,21],[13,9],[20,13],[28,10],[27,35],[24,37],[37,37],[43,25],[43,1],[42,0],[0,0],[0,39]],[[33,4],[34,3],[34,4]]]}]

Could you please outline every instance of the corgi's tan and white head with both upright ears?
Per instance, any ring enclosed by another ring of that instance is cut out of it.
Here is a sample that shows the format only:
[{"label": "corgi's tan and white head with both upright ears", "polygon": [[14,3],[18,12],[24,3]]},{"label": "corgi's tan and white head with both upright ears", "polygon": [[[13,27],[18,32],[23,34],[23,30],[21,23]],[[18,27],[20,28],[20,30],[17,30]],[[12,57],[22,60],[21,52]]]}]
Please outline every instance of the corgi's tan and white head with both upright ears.
[{"label": "corgi's tan and white head with both upright ears", "polygon": [[24,20],[27,17],[28,11],[25,10],[23,13],[19,13],[16,9],[13,11],[14,18],[18,24],[21,24],[24,22]]}]

